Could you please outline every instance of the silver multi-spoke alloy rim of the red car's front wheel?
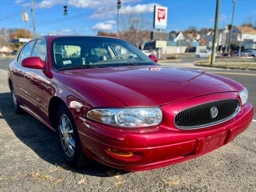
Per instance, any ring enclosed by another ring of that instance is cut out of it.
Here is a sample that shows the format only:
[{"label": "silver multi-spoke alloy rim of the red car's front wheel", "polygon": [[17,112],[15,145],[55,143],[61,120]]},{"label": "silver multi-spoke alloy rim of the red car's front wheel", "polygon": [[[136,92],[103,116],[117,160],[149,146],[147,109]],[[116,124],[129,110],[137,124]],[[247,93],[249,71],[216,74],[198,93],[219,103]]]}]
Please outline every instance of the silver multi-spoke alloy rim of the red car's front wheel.
[{"label": "silver multi-spoke alloy rim of the red car's front wheel", "polygon": [[75,151],[74,132],[70,120],[66,115],[61,115],[59,119],[59,136],[62,148],[68,157],[72,157]]}]

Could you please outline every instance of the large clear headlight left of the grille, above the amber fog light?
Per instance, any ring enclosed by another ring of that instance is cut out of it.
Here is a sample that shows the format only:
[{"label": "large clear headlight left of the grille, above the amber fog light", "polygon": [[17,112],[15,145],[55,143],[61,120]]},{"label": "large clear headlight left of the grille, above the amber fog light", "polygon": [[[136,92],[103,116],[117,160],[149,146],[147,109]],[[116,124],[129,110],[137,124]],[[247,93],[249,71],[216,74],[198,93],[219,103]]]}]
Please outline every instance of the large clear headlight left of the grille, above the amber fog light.
[{"label": "large clear headlight left of the grille, above the amber fog light", "polygon": [[159,107],[102,108],[89,110],[86,117],[111,126],[141,128],[159,125],[163,114]]}]

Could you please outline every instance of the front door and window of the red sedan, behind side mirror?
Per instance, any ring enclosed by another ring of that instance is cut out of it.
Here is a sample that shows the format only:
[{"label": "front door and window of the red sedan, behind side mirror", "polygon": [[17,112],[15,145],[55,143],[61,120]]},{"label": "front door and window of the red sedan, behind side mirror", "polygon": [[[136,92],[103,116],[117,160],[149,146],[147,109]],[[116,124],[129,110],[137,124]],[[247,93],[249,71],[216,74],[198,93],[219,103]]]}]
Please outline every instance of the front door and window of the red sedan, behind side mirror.
[{"label": "front door and window of the red sedan, behind side mirror", "polygon": [[[39,38],[36,40],[30,56],[40,57],[46,60],[46,40]],[[27,107],[38,114],[41,118],[45,114],[44,110],[44,80],[45,75],[41,69],[24,68],[24,92],[27,97]]]}]

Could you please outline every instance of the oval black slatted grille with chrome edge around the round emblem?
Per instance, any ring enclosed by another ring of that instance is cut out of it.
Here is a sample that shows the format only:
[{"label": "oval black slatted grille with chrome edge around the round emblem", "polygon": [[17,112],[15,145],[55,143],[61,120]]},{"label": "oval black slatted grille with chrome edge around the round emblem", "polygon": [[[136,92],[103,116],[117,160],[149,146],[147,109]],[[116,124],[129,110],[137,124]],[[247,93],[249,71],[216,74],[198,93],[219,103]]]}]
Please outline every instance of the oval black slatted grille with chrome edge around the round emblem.
[{"label": "oval black slatted grille with chrome edge around the round emblem", "polygon": [[[211,115],[212,108],[218,109],[215,118]],[[174,117],[174,124],[179,129],[198,129],[228,121],[238,114],[240,101],[238,99],[224,99],[192,106],[178,112]]]}]

